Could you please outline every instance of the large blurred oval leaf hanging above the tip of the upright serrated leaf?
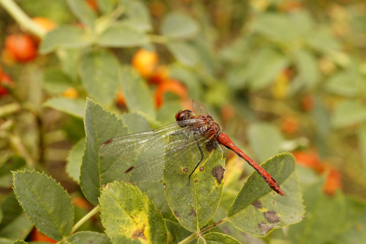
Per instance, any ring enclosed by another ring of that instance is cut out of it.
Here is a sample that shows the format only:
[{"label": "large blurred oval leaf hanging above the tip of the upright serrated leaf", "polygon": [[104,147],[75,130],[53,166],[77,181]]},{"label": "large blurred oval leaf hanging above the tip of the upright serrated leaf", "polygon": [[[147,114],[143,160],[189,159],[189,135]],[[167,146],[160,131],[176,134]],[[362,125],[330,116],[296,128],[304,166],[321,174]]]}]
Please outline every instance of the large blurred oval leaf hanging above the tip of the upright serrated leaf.
[{"label": "large blurred oval leaf hanging above the tip of the upright serrated leaf", "polygon": [[102,105],[114,101],[120,80],[120,66],[111,52],[98,50],[84,55],[81,80],[88,94]]}]

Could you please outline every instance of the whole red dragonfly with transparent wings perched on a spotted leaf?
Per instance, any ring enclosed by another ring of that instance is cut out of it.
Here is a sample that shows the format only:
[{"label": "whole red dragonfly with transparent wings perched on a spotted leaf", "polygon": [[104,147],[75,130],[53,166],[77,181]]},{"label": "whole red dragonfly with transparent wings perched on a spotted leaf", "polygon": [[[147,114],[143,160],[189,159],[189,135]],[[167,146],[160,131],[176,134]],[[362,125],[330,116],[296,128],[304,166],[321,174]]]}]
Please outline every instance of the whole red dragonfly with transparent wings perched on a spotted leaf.
[{"label": "whole red dragonfly with transparent wings perched on a spotted leaf", "polygon": [[[180,162],[182,171],[189,179],[202,161],[213,150],[230,149],[251,165],[275,192],[284,196],[279,184],[260,165],[240,150],[221,126],[197,102],[193,102],[192,112],[189,109],[179,110],[175,122],[154,130],[127,134],[108,139],[99,148],[102,157],[113,157],[127,163],[127,170],[121,180],[131,184],[151,182],[163,176],[164,162]],[[162,152],[145,160],[139,160],[143,153],[161,149]],[[189,156],[186,156],[189,155]],[[183,160],[182,160],[183,158]],[[169,167],[169,165],[165,165]],[[203,167],[200,167],[203,168]]]}]

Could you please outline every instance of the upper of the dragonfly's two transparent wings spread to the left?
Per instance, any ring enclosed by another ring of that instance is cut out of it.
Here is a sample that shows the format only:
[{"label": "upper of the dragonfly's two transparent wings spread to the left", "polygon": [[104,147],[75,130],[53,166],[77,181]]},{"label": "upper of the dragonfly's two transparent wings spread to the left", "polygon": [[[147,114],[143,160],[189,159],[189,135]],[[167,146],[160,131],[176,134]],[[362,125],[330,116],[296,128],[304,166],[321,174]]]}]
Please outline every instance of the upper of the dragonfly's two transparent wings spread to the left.
[{"label": "upper of the dragonfly's two transparent wings spread to the left", "polygon": [[142,152],[165,146],[169,135],[183,133],[187,130],[186,125],[198,126],[203,123],[205,121],[201,119],[188,119],[151,131],[118,136],[104,142],[99,148],[99,154],[102,157],[111,156],[120,160],[137,160]]}]

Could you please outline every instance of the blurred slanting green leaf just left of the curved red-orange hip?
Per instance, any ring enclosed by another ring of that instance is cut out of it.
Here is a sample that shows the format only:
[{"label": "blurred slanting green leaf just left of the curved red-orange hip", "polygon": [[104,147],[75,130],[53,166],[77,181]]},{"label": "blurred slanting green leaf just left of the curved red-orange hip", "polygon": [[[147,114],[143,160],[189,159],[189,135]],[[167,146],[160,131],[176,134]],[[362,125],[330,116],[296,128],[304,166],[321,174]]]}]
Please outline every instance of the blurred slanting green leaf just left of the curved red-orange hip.
[{"label": "blurred slanting green leaf just left of the curved red-orange hip", "polygon": [[125,66],[122,70],[122,85],[126,96],[128,111],[143,113],[147,120],[155,119],[156,111],[152,92],[131,66]]}]

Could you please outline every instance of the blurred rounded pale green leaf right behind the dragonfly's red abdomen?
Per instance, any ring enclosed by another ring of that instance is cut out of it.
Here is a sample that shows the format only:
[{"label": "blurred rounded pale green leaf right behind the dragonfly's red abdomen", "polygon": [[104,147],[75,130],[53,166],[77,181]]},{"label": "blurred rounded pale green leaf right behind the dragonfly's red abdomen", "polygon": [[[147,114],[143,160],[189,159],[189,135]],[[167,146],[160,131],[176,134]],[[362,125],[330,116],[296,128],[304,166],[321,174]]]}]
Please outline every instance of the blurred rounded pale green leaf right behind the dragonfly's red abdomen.
[{"label": "blurred rounded pale green leaf right behind the dragonfly's red abdomen", "polygon": [[259,162],[266,161],[281,150],[283,136],[279,129],[270,123],[259,122],[250,124],[247,129],[247,135]]}]

